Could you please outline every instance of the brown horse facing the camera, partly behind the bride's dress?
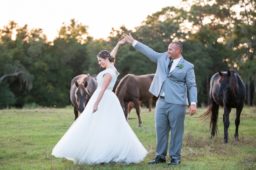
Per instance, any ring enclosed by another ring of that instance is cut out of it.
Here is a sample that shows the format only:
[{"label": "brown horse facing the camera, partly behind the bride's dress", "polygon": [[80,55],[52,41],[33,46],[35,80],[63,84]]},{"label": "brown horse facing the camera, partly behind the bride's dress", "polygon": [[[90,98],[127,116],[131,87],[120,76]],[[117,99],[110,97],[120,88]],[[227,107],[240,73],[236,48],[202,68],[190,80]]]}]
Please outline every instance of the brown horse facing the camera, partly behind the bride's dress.
[{"label": "brown horse facing the camera, partly behind the bride's dress", "polygon": [[97,81],[89,74],[81,74],[71,81],[70,100],[74,106],[75,120],[78,117],[78,112],[84,111],[97,86]]}]

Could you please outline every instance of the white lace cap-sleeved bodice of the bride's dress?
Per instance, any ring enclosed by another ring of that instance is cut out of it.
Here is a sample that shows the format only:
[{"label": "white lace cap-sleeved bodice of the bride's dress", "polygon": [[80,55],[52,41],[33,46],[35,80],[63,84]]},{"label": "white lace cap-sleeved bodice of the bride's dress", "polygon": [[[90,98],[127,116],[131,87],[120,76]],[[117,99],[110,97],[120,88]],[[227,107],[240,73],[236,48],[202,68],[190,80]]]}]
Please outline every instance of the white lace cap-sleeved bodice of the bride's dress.
[{"label": "white lace cap-sleeved bodice of the bride's dress", "polygon": [[[117,72],[117,70],[116,70],[116,72]],[[103,76],[104,76],[104,74],[109,73],[109,74],[111,75],[111,81],[110,81],[110,83],[109,83],[107,89],[109,89],[109,90],[112,91],[112,90],[113,90],[113,87],[114,87],[114,85],[115,85],[115,83],[116,83],[117,76],[119,75],[118,72],[117,72],[117,75],[116,75],[116,72],[115,72],[113,69],[106,69],[106,70],[104,70],[104,71],[101,71],[101,72],[98,74],[98,76],[97,76],[98,87],[100,88],[101,85],[102,85],[102,81],[103,81]]]}]

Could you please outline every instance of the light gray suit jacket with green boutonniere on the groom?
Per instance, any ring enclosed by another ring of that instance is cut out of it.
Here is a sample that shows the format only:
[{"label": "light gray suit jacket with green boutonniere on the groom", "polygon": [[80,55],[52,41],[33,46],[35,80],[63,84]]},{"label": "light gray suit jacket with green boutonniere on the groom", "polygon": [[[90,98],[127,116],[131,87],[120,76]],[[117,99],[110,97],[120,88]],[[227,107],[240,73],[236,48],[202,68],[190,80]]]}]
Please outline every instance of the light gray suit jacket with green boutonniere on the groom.
[{"label": "light gray suit jacket with green boutonniere on the groom", "polygon": [[[146,55],[153,62],[157,63],[156,74],[149,88],[149,92],[157,97],[165,81],[164,97],[166,102],[178,105],[188,105],[188,87],[189,102],[197,103],[196,77],[193,64],[187,62],[181,56],[180,62],[175,69],[169,73],[168,64],[170,58],[168,58],[167,52],[157,53],[139,41],[134,48]],[[179,68],[179,64],[181,63],[183,64],[183,67]]]}]

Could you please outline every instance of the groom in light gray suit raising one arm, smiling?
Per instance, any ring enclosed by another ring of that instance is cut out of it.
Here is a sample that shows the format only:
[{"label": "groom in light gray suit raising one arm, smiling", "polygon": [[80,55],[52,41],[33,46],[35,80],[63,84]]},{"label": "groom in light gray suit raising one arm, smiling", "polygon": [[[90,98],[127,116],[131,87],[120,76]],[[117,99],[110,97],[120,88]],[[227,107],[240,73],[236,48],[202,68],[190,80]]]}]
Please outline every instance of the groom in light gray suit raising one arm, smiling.
[{"label": "groom in light gray suit raising one arm, smiling", "polygon": [[168,51],[157,53],[148,46],[134,40],[129,33],[123,34],[126,41],[157,63],[157,70],[149,92],[159,96],[155,108],[156,123],[156,158],[148,164],[166,162],[169,131],[171,141],[168,165],[180,163],[180,152],[183,140],[186,105],[188,105],[187,87],[189,92],[190,116],[196,113],[197,91],[193,64],[183,59],[182,45],[172,42]]}]

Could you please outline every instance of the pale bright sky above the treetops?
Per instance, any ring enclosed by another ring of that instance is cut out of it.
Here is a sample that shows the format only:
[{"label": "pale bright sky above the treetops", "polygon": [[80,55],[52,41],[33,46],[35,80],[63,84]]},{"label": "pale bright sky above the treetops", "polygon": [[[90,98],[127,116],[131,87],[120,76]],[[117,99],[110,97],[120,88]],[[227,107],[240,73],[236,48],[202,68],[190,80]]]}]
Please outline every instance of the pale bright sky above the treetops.
[{"label": "pale bright sky above the treetops", "polygon": [[181,0],[0,0],[0,29],[14,20],[28,29],[42,28],[48,41],[58,35],[62,23],[71,18],[89,26],[94,39],[106,39],[111,28],[125,25],[134,30],[148,15],[166,6],[178,6]]}]

